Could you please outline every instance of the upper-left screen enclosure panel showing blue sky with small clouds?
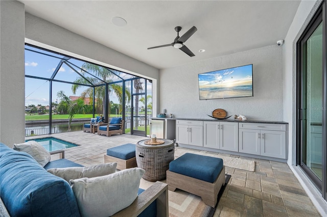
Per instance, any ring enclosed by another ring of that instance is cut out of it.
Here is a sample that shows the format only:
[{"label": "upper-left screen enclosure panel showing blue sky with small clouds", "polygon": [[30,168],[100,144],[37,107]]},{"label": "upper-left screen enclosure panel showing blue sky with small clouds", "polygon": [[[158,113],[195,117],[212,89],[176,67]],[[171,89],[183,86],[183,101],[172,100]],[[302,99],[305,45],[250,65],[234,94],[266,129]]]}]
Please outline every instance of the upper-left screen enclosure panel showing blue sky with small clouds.
[{"label": "upper-left screen enclosure panel showing blue sky with small clouds", "polygon": [[60,59],[55,58],[53,56],[47,56],[26,50],[25,75],[50,79],[55,69],[57,68],[59,62]]}]

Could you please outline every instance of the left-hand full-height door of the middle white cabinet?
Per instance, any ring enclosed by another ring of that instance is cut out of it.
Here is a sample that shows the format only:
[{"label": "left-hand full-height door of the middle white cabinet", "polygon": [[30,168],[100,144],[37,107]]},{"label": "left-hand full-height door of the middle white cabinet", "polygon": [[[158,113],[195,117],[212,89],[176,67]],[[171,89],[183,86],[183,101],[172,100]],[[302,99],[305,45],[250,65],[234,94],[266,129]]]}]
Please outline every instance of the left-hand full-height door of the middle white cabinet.
[{"label": "left-hand full-height door of the middle white cabinet", "polygon": [[203,147],[219,149],[219,122],[203,122]]}]

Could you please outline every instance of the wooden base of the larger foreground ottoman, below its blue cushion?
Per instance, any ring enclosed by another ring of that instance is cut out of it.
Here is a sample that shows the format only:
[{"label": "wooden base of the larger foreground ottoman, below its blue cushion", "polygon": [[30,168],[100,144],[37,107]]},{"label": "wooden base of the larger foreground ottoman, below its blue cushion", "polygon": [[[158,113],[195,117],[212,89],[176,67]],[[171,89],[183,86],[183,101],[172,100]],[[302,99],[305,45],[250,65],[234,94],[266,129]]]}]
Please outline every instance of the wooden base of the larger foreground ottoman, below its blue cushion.
[{"label": "wooden base of the larger foreground ottoman, below its blue cushion", "polygon": [[169,170],[166,173],[169,190],[175,191],[176,188],[179,188],[201,197],[202,201],[208,206],[216,206],[219,190],[225,181],[225,166],[221,169],[214,183],[174,173]]}]

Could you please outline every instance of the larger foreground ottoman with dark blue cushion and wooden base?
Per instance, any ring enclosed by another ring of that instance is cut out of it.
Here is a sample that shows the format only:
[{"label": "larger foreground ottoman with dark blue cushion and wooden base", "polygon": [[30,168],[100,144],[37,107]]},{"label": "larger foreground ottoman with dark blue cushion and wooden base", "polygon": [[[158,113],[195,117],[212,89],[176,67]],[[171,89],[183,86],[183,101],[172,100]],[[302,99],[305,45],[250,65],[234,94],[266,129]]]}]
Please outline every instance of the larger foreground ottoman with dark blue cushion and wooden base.
[{"label": "larger foreground ottoman with dark blue cushion and wooden base", "polygon": [[225,166],[221,158],[186,153],[169,164],[168,189],[176,188],[201,197],[211,207],[225,181]]}]

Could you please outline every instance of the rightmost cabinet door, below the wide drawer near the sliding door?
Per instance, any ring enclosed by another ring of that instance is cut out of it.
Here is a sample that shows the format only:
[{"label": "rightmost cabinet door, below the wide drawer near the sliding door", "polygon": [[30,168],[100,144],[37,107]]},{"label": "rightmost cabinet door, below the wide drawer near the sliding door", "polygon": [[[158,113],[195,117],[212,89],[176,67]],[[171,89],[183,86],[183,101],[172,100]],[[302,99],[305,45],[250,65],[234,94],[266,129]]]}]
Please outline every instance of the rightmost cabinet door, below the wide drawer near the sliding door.
[{"label": "rightmost cabinet door, below the wide drawer near the sliding door", "polygon": [[286,159],[285,131],[261,131],[261,155]]}]

